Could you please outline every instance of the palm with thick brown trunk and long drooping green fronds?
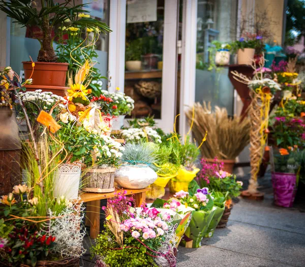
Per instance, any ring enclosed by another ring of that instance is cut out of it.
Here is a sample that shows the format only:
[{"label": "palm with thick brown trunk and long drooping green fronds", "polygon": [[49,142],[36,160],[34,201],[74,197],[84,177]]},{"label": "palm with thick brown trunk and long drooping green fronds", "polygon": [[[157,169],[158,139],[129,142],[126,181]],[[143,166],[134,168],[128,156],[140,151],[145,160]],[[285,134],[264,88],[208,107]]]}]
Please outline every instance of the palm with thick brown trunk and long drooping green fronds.
[{"label": "palm with thick brown trunk and long drooping green fronds", "polygon": [[104,32],[110,31],[110,28],[99,20],[79,16],[79,13],[88,12],[82,10],[86,4],[75,5],[75,2],[70,0],[60,4],[53,0],[41,0],[40,4],[41,9],[37,9],[32,0],[0,0],[0,10],[15,19],[17,23],[25,27],[38,26],[42,30],[43,38],[38,39],[41,44],[38,61],[57,60],[53,48],[52,31],[56,25],[60,25],[67,19],[71,21],[72,26],[98,27]]}]

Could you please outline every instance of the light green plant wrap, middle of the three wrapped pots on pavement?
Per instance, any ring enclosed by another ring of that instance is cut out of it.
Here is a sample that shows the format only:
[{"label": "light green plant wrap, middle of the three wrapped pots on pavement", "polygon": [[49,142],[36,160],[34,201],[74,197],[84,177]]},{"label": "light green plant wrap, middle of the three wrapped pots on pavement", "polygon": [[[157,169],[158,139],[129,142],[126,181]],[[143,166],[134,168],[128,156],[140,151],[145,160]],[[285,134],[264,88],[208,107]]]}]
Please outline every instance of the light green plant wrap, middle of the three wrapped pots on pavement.
[{"label": "light green plant wrap, middle of the three wrapped pots on pavement", "polygon": [[199,248],[215,211],[216,207],[213,207],[210,211],[194,211],[180,245],[186,248]]}]

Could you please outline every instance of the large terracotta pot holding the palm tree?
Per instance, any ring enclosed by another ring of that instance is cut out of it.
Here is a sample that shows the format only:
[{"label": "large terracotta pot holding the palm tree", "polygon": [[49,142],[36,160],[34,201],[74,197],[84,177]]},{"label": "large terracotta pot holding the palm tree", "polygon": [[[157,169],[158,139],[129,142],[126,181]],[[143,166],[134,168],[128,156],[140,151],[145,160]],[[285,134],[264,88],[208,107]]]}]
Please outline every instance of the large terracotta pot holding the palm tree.
[{"label": "large terracotta pot holding the palm tree", "polygon": [[[23,61],[24,78],[31,77],[33,68],[31,61]],[[27,85],[26,90],[52,91],[53,93],[65,96],[66,78],[68,63],[58,62],[35,62],[34,73],[32,75],[33,84]]]}]

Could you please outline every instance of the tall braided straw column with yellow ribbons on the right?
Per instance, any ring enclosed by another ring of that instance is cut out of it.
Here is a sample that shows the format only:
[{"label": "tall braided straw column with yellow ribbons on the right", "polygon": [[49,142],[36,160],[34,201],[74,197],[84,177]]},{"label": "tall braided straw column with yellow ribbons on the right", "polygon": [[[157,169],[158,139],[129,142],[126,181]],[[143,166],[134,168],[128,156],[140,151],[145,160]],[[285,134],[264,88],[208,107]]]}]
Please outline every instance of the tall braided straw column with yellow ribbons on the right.
[{"label": "tall braided straw column with yellow ribbons on the right", "polygon": [[251,131],[250,131],[250,165],[251,165],[251,179],[249,181],[248,191],[250,193],[257,192],[257,173],[259,171],[259,166],[263,156],[263,146],[261,140],[263,138],[264,132],[261,131],[261,125],[263,121],[267,118],[261,117],[262,107],[260,103],[260,98],[257,93],[250,90],[250,97],[252,99],[249,115],[251,118]]}]

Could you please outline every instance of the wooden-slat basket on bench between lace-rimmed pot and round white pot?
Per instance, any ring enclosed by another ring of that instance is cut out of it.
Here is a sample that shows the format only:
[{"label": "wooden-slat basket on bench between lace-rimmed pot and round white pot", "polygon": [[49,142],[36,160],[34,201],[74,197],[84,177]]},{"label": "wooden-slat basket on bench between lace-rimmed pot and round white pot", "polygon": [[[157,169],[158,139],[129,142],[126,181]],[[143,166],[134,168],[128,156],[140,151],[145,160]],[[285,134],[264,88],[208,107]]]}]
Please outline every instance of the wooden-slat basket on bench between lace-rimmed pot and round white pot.
[{"label": "wooden-slat basket on bench between lace-rimmed pot and round white pot", "polygon": [[113,192],[115,170],[115,168],[89,169],[85,175],[88,181],[84,190],[95,193]]}]

